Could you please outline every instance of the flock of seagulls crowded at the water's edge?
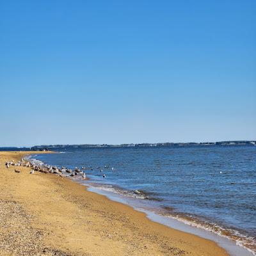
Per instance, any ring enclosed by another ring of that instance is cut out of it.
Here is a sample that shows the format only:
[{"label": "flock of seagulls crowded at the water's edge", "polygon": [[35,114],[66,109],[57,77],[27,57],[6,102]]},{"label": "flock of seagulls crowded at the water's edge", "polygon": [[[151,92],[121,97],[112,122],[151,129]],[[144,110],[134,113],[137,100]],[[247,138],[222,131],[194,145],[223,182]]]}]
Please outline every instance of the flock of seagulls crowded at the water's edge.
[{"label": "flock of seagulls crowded at the water's edge", "polygon": [[[86,167],[81,167],[78,168],[76,167],[74,170],[70,169],[70,168],[65,168],[64,166],[61,166],[61,168],[58,168],[56,166],[51,166],[49,164],[35,164],[33,162],[29,162],[29,161],[25,161],[23,158],[21,159],[21,161],[15,163],[14,160],[12,161],[8,161],[5,163],[6,168],[10,168],[10,166],[26,166],[28,168],[31,168],[31,174],[34,174],[35,172],[42,172],[42,173],[54,173],[54,174],[58,174],[61,177],[74,177],[76,175],[81,175],[83,177],[83,179],[87,179],[86,177],[86,173],[85,170],[89,169],[89,170],[93,170],[92,166],[88,166]],[[99,166],[96,167],[97,169],[100,169]],[[109,166],[105,165],[104,166],[105,169],[108,169]],[[113,171],[114,168],[112,167],[111,170]],[[15,170],[15,172],[19,173],[19,170]],[[100,169],[100,173],[103,172],[103,169]],[[65,173],[70,173],[68,175],[65,175]],[[103,178],[106,178],[106,174],[102,174]]]}]

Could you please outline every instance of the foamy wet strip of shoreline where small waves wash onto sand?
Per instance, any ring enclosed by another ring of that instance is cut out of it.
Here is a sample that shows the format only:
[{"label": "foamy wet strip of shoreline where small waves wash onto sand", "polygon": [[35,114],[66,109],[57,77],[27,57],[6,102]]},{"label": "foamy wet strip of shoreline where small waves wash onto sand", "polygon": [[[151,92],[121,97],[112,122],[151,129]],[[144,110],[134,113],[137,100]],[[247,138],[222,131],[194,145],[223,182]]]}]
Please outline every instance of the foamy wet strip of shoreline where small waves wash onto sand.
[{"label": "foamy wet strip of shoreline where small waves wash onto sand", "polygon": [[[90,182],[90,179],[72,180],[74,180],[74,182],[81,182],[84,186],[89,187],[89,191],[99,193],[100,195],[106,195],[110,200],[130,205],[137,211],[146,212],[147,216],[154,216],[155,221],[164,223],[164,225],[168,227],[215,241],[221,247],[225,248],[225,250],[232,256],[255,255],[255,247],[252,247],[252,244],[248,244],[248,247],[244,245],[247,242],[250,242],[249,239],[253,239],[253,237],[243,237],[241,234],[234,235],[236,230],[226,231],[225,228],[216,223],[205,223],[200,220],[200,218],[195,218],[194,216],[182,215],[180,212],[177,214],[177,212],[173,211],[163,211],[163,209],[160,209],[156,205],[152,205],[151,200],[148,202],[147,200],[143,200],[144,198],[141,199],[140,197],[127,196],[125,193],[119,193],[120,187],[111,184],[96,183],[97,186],[95,186],[95,183]],[[104,189],[104,186],[111,186],[111,189]],[[118,191],[116,191],[116,188],[118,188]],[[173,223],[175,223],[174,227]],[[233,234],[231,232],[233,232]]]}]

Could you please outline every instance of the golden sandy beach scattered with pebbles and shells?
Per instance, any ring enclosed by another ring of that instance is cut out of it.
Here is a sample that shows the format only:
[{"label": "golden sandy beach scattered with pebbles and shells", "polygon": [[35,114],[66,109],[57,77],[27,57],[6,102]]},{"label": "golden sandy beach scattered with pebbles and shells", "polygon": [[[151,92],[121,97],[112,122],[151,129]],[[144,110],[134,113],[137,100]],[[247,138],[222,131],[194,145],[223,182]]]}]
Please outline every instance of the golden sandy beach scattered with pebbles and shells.
[{"label": "golden sandy beach scattered with pebbles and shells", "polygon": [[31,153],[0,152],[0,255],[227,255],[70,179],[4,165]]}]

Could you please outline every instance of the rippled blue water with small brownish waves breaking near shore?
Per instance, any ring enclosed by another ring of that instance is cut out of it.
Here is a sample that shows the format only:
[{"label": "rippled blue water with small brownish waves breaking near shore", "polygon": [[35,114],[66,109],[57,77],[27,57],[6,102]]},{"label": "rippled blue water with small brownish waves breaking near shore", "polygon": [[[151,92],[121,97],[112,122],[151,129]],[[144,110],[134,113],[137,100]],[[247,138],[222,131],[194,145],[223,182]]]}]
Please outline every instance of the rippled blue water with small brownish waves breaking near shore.
[{"label": "rippled blue water with small brownish waves breaking near shore", "polygon": [[91,186],[138,198],[161,214],[198,223],[255,250],[256,147],[56,150],[65,154],[35,158],[68,168],[92,166],[85,171]]}]

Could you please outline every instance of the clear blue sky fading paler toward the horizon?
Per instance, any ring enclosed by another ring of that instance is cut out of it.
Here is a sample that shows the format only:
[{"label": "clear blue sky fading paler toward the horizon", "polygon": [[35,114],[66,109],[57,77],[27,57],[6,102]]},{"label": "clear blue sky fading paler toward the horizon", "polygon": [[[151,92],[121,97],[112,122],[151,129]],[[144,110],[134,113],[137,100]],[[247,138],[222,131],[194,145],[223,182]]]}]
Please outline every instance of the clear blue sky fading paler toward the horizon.
[{"label": "clear blue sky fading paler toward the horizon", "polygon": [[0,147],[256,140],[256,1],[0,1]]}]

